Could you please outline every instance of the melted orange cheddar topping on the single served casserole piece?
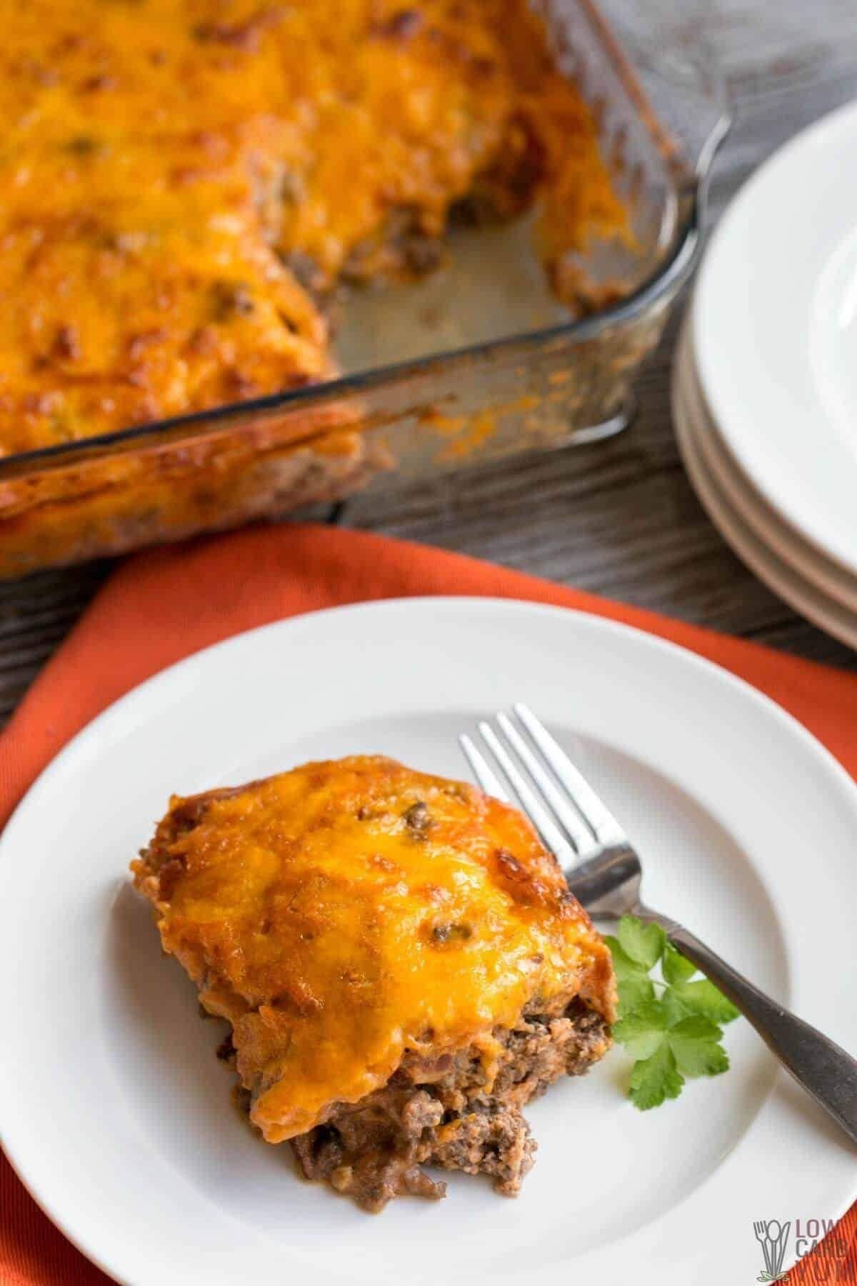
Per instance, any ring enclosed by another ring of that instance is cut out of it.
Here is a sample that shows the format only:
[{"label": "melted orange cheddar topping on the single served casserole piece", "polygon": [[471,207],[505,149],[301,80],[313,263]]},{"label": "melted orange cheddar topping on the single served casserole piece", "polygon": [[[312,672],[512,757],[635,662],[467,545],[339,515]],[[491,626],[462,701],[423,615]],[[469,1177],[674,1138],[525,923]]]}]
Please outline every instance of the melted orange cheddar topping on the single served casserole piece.
[{"label": "melted orange cheddar topping on the single served casserole piece", "polygon": [[526,818],[389,759],[173,799],[134,869],[270,1142],[406,1051],[475,1044],[490,1082],[493,1029],[532,1001],[614,1017],[609,952]]}]

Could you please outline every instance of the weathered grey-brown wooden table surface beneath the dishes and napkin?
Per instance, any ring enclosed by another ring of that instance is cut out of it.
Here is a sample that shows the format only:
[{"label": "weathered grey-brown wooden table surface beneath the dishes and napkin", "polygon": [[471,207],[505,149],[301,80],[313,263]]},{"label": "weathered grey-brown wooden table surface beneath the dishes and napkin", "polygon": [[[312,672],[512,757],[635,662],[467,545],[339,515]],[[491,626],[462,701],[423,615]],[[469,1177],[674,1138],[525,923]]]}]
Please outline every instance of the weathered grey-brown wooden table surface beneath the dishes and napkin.
[{"label": "weathered grey-brown wooden table surface beneath the dishes and napkin", "polygon": [[[605,0],[622,23],[623,5]],[[716,165],[714,220],[750,171],[809,121],[857,98],[854,0],[660,0],[664,45],[696,45],[723,69],[738,122]],[[653,12],[645,5],[646,15]],[[767,590],[705,517],[684,473],[669,413],[681,306],[642,373],[619,437],[420,486],[340,521],[457,549],[627,603],[857,670],[857,655]],[[109,563],[0,585],[0,719],[109,574]]]}]

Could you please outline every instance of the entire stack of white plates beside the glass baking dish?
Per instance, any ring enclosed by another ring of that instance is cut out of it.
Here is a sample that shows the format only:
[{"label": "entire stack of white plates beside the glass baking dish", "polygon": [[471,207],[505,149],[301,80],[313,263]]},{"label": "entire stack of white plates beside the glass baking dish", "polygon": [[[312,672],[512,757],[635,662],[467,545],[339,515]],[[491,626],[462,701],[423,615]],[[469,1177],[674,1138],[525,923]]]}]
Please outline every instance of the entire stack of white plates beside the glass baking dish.
[{"label": "entire stack of white plates beside the glass baking dish", "polygon": [[673,369],[709,517],[791,607],[857,648],[857,104],[743,188]]}]

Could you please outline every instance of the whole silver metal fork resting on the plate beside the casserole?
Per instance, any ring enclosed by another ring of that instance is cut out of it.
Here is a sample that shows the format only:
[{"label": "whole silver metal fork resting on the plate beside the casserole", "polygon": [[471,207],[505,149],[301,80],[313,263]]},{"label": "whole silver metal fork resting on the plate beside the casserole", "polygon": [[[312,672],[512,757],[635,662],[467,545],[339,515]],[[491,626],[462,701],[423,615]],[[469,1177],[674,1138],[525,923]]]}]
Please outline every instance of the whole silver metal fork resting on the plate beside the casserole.
[{"label": "whole silver metal fork resting on the plate beside the casserole", "polygon": [[[640,899],[642,867],[627,835],[543,724],[522,703],[515,720],[496,716],[479,733],[491,757],[556,855],[568,886],[594,919],[637,916],[668,940],[738,1006],[784,1067],[857,1143],[857,1061],[816,1028],[759,992],[694,934]],[[461,748],[482,788],[511,802],[501,777],[465,734]]]}]

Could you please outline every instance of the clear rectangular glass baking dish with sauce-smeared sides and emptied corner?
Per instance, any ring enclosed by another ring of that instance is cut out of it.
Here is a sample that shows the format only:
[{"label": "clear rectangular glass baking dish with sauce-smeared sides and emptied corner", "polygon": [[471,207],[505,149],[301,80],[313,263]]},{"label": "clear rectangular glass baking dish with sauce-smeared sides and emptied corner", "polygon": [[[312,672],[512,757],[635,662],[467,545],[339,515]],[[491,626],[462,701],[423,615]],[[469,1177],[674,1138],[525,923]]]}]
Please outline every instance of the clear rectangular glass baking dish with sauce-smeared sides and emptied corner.
[{"label": "clear rectangular glass baking dish with sauce-smeared sides and emptied corner", "polygon": [[703,68],[659,66],[657,32],[626,54],[592,0],[547,18],[633,230],[570,265],[581,315],[551,296],[526,219],[460,229],[432,276],[351,296],[340,378],[0,460],[1,577],[626,426],[693,269],[727,118]]}]

